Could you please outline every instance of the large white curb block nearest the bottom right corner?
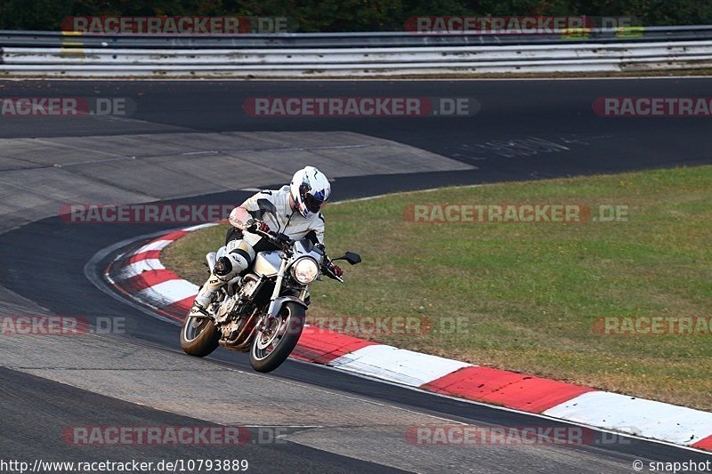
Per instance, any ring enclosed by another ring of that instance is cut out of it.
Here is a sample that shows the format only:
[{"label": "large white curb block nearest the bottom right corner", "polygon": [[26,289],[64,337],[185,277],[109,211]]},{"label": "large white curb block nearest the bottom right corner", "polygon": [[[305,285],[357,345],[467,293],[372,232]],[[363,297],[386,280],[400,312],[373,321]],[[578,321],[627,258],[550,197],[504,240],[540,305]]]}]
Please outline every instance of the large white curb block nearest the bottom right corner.
[{"label": "large white curb block nearest the bottom right corner", "polygon": [[544,414],[680,445],[712,435],[710,413],[605,391],[584,393]]}]

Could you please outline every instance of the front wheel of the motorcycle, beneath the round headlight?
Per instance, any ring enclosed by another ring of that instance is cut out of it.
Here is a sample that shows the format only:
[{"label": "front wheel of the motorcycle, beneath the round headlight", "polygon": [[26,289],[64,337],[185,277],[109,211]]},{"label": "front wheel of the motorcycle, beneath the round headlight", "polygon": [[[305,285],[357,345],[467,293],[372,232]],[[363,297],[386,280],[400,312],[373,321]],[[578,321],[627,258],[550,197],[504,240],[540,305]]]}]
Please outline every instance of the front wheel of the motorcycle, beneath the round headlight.
[{"label": "front wheel of the motorcycle, beneath the round headlight", "polygon": [[250,365],[257,372],[271,372],[287,360],[302,335],[306,309],[294,301],[287,301],[279,309],[270,330],[257,331],[250,349]]}]

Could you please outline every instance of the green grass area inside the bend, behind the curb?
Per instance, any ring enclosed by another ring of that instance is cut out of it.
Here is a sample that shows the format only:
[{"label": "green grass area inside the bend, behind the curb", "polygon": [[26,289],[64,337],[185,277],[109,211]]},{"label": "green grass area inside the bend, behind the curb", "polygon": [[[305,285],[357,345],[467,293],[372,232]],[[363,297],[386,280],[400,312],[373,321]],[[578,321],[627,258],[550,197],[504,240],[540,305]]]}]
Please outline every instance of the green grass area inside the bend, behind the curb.
[{"label": "green grass area inside the bend, behind the curb", "polygon": [[[627,205],[628,221],[428,223],[428,203]],[[712,410],[712,336],[600,335],[599,316],[712,315],[712,166],[440,189],[325,209],[346,285],[312,285],[312,315],[465,317],[450,333],[370,337],[482,366]],[[202,283],[223,226],[163,253]],[[364,334],[355,334],[364,337]],[[365,336],[368,338],[368,336]]]}]

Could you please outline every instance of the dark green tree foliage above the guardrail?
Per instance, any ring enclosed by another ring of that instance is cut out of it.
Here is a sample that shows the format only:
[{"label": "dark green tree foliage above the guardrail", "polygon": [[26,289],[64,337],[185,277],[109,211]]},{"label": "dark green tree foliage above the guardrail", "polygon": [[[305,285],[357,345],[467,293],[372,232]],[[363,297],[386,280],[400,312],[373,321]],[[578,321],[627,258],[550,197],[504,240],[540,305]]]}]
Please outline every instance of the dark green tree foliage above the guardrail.
[{"label": "dark green tree foliage above the guardrail", "polygon": [[708,0],[0,0],[0,29],[58,30],[68,16],[289,17],[299,31],[401,31],[436,15],[630,16],[645,25],[712,22]]}]

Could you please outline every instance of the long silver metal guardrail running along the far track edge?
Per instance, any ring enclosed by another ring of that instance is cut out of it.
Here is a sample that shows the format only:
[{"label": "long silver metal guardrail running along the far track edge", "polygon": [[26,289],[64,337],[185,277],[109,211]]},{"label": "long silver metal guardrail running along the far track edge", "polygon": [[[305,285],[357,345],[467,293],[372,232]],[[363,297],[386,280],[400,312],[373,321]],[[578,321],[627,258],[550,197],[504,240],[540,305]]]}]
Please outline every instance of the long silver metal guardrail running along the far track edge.
[{"label": "long silver metal guardrail running along the far track edge", "polygon": [[610,40],[594,36],[615,35],[611,30],[591,31],[587,38],[535,37],[523,44],[513,38],[508,44],[472,44],[465,35],[410,33],[217,37],[13,32],[11,46],[4,39],[7,33],[0,32],[0,76],[442,76],[712,68],[712,26],[659,27],[646,29],[643,36]]}]

